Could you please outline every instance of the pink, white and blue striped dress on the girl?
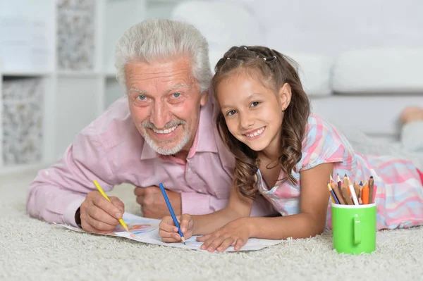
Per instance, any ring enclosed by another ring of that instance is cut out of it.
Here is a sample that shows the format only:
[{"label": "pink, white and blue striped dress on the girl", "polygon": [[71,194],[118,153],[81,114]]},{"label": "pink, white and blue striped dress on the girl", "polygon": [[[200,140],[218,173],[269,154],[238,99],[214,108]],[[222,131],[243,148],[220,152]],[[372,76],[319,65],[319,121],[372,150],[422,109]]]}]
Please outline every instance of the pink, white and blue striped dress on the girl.
[{"label": "pink, white and blue striped dress on the girl", "polygon": [[[282,216],[300,212],[300,172],[321,163],[333,163],[333,175],[347,174],[350,180],[368,180],[376,189],[377,229],[394,229],[423,224],[423,186],[417,168],[407,159],[361,155],[335,127],[318,115],[309,116],[302,158],[293,169],[297,185],[289,181],[268,188],[258,171],[257,188]],[[280,175],[280,178],[283,174]],[[331,228],[331,201],[326,227]]]}]

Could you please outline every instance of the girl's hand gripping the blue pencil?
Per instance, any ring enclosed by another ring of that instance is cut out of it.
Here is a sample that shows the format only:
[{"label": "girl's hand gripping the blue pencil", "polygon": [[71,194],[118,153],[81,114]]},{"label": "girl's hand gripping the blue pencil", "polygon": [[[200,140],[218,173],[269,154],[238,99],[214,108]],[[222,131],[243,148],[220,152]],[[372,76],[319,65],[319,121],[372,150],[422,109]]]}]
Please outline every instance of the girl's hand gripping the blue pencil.
[{"label": "girl's hand gripping the blue pencil", "polygon": [[[188,214],[184,214],[181,216],[177,216],[176,219],[178,220],[180,231],[183,233],[183,237],[188,239],[192,236],[192,232],[194,231],[194,220]],[[180,242],[180,235],[178,233],[178,227],[176,227],[175,223],[173,223],[173,219],[171,216],[166,216],[161,219],[159,224],[159,235],[163,242],[172,243],[172,242]]]}]

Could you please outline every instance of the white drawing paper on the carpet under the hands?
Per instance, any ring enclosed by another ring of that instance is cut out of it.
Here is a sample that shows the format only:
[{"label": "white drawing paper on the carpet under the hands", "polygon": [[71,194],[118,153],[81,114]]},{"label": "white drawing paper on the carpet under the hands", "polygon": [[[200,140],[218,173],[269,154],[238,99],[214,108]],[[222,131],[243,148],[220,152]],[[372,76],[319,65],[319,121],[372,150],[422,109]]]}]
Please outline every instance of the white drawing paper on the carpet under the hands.
[{"label": "white drawing paper on the carpet under the hands", "polygon": [[[122,231],[123,227],[119,225],[118,227],[116,227],[115,232],[111,232],[105,235],[124,237],[124,238],[128,238],[138,242],[147,243],[147,244],[156,244],[161,246],[171,246],[171,247],[182,248],[182,249],[206,251],[206,250],[200,249],[202,242],[197,242],[196,240],[197,236],[193,236],[193,237],[190,237],[189,239],[186,239],[185,240],[186,245],[184,245],[182,242],[165,243],[161,241],[161,237],[159,236],[160,220],[155,220],[152,218],[142,218],[140,216],[135,216],[130,213],[124,213],[123,220],[125,221],[126,225],[128,225],[130,232]],[[82,230],[78,227],[73,227],[71,225],[62,224],[61,226],[66,227],[70,230],[77,231],[77,232],[86,232],[85,230]],[[247,243],[245,243],[245,245],[239,251],[256,251],[259,249],[264,249],[268,246],[279,244],[281,242],[282,240],[250,238],[248,239]],[[233,249],[233,246],[229,246],[228,249],[226,249],[226,251],[235,251],[235,249]]]}]

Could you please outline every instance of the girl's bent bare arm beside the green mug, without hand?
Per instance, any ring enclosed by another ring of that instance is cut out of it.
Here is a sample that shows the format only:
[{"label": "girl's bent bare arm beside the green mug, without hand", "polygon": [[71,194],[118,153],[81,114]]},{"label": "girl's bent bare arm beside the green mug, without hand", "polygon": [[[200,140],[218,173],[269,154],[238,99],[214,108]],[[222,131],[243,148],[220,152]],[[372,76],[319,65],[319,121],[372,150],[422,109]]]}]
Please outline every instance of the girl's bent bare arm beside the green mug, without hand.
[{"label": "girl's bent bare arm beside the green mug, without hand", "polygon": [[245,218],[250,237],[262,239],[306,238],[319,235],[326,225],[329,202],[327,182],[333,164],[324,163],[300,173],[300,213],[277,218]]}]

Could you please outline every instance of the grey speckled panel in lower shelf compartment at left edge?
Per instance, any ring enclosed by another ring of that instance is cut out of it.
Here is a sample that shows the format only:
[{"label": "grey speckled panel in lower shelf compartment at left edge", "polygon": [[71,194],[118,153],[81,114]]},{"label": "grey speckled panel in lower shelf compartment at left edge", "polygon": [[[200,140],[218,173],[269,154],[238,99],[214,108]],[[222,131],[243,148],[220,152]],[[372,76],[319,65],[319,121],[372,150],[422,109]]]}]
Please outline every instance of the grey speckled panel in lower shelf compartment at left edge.
[{"label": "grey speckled panel in lower shelf compartment at left edge", "polygon": [[43,92],[41,78],[4,80],[1,120],[5,166],[41,161]]}]

